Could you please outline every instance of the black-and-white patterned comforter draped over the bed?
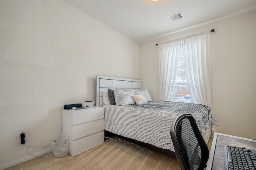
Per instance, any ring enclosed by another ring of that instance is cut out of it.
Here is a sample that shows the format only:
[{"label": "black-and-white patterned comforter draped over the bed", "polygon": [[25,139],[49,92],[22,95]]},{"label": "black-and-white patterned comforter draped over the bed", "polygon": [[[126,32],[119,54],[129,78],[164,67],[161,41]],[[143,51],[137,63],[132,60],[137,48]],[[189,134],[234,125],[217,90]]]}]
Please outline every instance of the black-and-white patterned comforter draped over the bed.
[{"label": "black-and-white patterned comforter draped over the bed", "polygon": [[190,113],[202,136],[214,122],[208,106],[168,101],[151,101],[140,105],[105,105],[104,130],[174,152],[170,136],[173,120]]}]

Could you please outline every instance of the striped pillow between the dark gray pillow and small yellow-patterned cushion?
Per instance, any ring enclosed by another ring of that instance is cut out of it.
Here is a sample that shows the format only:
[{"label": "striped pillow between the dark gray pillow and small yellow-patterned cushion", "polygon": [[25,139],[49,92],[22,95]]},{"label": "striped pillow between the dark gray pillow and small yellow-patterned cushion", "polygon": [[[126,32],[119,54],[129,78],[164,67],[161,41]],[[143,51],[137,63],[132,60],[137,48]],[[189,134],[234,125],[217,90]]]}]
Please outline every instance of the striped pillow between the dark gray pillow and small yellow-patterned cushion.
[{"label": "striped pillow between the dark gray pillow and small yellow-patterned cushion", "polygon": [[122,90],[115,88],[116,105],[135,104],[132,95],[135,95],[134,90]]}]

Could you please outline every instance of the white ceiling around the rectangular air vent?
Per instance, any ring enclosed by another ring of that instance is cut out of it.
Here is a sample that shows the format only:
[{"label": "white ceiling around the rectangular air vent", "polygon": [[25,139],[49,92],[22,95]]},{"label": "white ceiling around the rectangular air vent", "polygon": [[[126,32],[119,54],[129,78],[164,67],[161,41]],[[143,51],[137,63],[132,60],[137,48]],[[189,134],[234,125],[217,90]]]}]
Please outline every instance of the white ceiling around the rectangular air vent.
[{"label": "white ceiling around the rectangular air vent", "polygon": [[[145,42],[256,10],[256,0],[64,0],[64,2],[137,42]],[[183,18],[171,21],[168,16],[177,12],[182,12]]]}]

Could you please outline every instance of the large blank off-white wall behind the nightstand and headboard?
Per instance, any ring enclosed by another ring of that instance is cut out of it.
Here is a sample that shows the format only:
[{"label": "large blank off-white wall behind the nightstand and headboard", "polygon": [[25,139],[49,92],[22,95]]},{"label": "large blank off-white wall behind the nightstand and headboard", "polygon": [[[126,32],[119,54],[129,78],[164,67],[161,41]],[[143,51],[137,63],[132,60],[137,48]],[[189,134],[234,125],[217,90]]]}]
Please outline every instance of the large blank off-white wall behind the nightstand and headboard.
[{"label": "large blank off-white wall behind the nightstand and headboard", "polygon": [[47,146],[64,104],[96,100],[96,75],[138,79],[139,44],[63,1],[0,3],[3,169],[34,158],[18,134]]}]

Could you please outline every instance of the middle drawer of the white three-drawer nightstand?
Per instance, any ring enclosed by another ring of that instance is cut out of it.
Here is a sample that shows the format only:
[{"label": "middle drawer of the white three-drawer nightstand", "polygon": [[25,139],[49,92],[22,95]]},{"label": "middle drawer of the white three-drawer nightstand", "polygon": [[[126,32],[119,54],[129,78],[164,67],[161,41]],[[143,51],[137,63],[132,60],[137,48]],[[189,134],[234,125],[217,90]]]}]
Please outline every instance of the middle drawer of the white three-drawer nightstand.
[{"label": "middle drawer of the white three-drawer nightstand", "polygon": [[104,120],[96,120],[72,127],[72,140],[104,130]]}]

